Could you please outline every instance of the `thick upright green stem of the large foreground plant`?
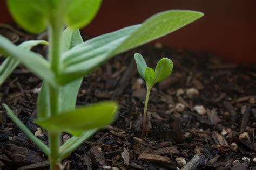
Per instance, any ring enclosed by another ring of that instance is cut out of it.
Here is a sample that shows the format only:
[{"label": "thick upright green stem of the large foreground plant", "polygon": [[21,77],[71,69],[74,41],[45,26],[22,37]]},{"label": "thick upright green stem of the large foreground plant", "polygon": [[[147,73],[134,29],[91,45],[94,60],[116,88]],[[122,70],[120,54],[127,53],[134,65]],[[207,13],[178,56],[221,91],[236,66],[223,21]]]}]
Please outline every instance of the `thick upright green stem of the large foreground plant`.
[{"label": "thick upright green stem of the large foreground plant", "polygon": [[[49,54],[48,59],[51,63],[51,69],[58,76],[60,72],[60,55],[62,53],[62,32],[63,32],[62,19],[56,15],[52,15],[50,18],[49,25]],[[59,88],[49,86],[50,94],[50,114],[51,116],[59,114]],[[50,169],[59,169],[60,157],[59,157],[59,146],[60,146],[59,132],[48,131],[48,141],[50,147]]]}]

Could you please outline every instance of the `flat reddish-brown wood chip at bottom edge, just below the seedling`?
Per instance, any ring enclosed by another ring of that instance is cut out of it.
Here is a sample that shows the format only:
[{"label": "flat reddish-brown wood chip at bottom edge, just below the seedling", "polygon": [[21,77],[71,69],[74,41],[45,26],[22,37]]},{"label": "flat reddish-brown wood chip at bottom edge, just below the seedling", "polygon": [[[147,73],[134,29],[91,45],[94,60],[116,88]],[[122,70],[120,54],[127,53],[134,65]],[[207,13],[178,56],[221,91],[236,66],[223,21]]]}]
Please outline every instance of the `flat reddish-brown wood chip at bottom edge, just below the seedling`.
[{"label": "flat reddish-brown wood chip at bottom edge, just below the seedling", "polygon": [[142,153],[139,155],[140,160],[149,161],[149,162],[157,162],[161,164],[171,164],[171,159],[168,157],[163,157],[157,154],[152,153]]}]

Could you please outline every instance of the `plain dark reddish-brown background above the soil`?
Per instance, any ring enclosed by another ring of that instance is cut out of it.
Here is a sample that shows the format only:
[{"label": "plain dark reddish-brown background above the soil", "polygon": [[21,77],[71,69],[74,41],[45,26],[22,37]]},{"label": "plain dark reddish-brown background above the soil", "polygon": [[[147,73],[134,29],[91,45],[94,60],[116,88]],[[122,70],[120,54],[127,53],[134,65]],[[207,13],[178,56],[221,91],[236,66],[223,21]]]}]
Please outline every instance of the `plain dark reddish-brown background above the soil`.
[{"label": "plain dark reddish-brown background above the soil", "polygon": [[[0,22],[10,22],[10,16],[3,16],[7,10],[0,1]],[[103,0],[97,17],[83,32],[97,36],[169,9],[198,10],[205,16],[158,42],[172,48],[214,52],[230,61],[256,63],[255,0]]]}]

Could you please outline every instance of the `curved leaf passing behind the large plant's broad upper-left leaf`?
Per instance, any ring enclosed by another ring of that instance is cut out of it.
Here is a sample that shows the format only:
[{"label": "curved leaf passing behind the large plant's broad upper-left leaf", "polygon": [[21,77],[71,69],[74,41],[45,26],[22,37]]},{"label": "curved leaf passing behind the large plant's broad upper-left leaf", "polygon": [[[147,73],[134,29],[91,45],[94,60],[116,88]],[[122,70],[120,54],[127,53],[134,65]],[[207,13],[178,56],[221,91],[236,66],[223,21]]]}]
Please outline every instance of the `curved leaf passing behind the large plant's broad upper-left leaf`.
[{"label": "curved leaf passing behind the large plant's broad upper-left leaf", "polygon": [[[31,40],[25,41],[20,44],[19,48],[31,49],[33,46],[38,44],[48,44],[47,41],[43,40]],[[5,79],[12,73],[12,71],[18,66],[19,62],[14,58],[6,58],[2,65],[0,66],[0,85],[5,81]]]}]

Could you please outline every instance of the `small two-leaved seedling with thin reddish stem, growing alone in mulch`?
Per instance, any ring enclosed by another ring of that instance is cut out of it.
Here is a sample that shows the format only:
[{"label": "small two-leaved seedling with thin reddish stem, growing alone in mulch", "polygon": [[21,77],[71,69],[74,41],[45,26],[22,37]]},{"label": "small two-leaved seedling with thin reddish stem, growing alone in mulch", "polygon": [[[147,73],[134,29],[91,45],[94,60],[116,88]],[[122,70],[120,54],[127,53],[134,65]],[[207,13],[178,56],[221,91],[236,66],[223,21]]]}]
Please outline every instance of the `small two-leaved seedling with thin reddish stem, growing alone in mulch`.
[{"label": "small two-leaved seedling with thin reddish stem, growing alone in mulch", "polygon": [[172,73],[172,60],[163,58],[158,61],[156,69],[147,67],[143,56],[139,53],[134,54],[134,59],[136,61],[137,69],[139,75],[143,77],[146,82],[147,93],[145,98],[144,112],[143,112],[143,130],[142,136],[145,137],[146,134],[146,118],[147,118],[147,103],[149,103],[150,91],[154,84],[163,81]]}]

